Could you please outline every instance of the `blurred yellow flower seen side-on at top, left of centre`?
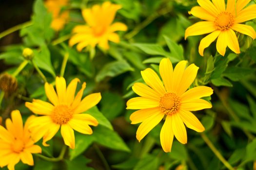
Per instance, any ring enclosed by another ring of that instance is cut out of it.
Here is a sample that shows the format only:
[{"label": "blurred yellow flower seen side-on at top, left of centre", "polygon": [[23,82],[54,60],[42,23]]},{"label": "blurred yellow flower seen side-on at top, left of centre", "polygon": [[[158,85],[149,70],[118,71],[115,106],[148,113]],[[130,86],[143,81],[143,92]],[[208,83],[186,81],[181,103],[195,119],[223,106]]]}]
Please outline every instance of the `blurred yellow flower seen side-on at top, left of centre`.
[{"label": "blurred yellow flower seen side-on at top, left of centre", "polygon": [[69,41],[70,46],[77,45],[77,50],[82,51],[86,46],[109,49],[108,40],[119,43],[119,35],[116,31],[126,31],[127,26],[120,22],[112,24],[120,5],[112,4],[109,1],[101,6],[94,5],[91,9],[83,9],[82,16],[87,25],[78,25],[73,29],[74,35]]}]

